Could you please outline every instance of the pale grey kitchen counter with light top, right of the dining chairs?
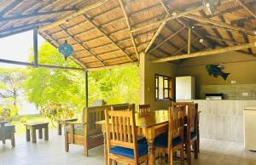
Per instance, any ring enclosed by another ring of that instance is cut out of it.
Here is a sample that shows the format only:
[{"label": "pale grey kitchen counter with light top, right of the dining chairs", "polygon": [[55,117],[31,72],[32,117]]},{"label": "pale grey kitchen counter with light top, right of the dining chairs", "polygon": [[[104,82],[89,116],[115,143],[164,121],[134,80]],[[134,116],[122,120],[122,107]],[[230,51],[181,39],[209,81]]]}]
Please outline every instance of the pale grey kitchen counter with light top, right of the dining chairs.
[{"label": "pale grey kitchen counter with light top, right of the dining chairs", "polygon": [[178,100],[198,103],[202,138],[244,142],[245,107],[254,107],[256,100]]}]

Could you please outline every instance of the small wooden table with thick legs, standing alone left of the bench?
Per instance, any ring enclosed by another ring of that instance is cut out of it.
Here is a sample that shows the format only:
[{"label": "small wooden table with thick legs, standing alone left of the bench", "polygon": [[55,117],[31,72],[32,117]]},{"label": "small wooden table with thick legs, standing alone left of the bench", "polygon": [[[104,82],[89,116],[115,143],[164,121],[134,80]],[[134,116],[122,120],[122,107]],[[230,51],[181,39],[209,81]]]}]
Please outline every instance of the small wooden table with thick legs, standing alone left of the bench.
[{"label": "small wooden table with thick legs, standing alone left of the bench", "polygon": [[44,140],[49,140],[49,122],[32,122],[24,124],[26,126],[26,141],[30,141],[30,132],[32,134],[32,143],[37,143],[37,133],[38,138],[43,139],[43,128],[44,128]]}]

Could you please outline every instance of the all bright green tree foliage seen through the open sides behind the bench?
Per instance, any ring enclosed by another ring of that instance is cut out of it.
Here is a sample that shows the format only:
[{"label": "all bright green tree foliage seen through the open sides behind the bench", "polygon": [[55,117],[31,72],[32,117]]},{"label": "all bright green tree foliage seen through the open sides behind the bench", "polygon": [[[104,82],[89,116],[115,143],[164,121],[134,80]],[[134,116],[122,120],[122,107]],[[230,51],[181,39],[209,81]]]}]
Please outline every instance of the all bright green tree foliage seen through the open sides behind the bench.
[{"label": "all bright green tree foliage seen through the open sides behind the bench", "polygon": [[[31,58],[32,59],[32,55]],[[79,67],[73,60],[65,61],[57,49],[44,43],[38,50],[38,63]],[[37,106],[49,102],[68,103],[81,110],[84,101],[84,71],[28,67],[26,94]],[[108,71],[89,72],[89,105],[92,100],[108,104],[139,102],[138,67],[129,66]]]}]

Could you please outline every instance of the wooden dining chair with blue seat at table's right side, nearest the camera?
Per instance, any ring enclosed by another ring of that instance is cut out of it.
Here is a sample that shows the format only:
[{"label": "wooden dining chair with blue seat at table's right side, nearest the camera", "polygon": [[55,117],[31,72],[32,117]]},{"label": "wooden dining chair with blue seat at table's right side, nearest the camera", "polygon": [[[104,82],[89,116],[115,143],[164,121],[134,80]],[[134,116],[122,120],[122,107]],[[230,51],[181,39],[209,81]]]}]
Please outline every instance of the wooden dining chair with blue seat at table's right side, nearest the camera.
[{"label": "wooden dining chair with blue seat at table's right side, nearest the camera", "polygon": [[173,152],[180,151],[178,159],[184,164],[183,126],[184,111],[181,107],[169,107],[168,133],[160,134],[154,139],[156,154],[168,154],[169,165],[173,164]]}]

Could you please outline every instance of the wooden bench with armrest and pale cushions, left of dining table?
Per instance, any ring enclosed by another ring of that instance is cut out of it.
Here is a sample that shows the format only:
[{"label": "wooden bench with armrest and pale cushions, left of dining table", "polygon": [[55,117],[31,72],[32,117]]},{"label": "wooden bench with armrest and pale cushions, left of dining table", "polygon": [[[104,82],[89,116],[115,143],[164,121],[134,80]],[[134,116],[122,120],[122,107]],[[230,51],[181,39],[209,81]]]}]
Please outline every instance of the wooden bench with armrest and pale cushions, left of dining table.
[{"label": "wooden bench with armrest and pale cushions, left of dining table", "polygon": [[90,149],[103,145],[102,127],[96,122],[104,120],[104,111],[110,109],[111,105],[84,108],[82,122],[65,122],[65,151],[69,151],[69,144],[83,145],[88,156]]}]

